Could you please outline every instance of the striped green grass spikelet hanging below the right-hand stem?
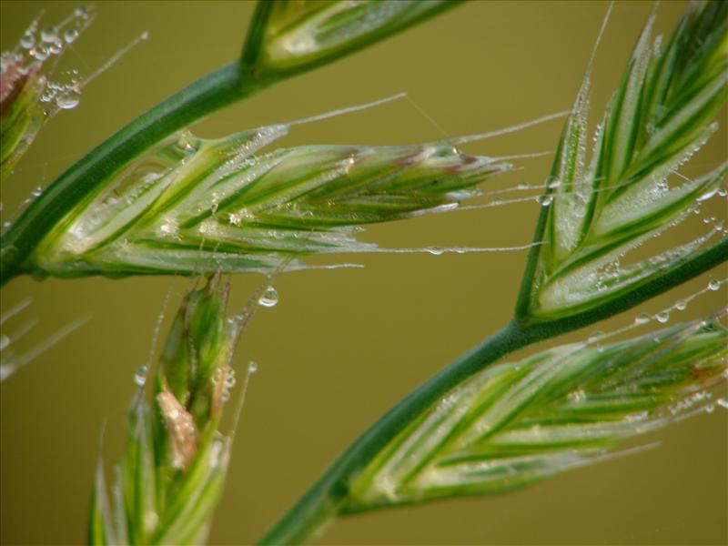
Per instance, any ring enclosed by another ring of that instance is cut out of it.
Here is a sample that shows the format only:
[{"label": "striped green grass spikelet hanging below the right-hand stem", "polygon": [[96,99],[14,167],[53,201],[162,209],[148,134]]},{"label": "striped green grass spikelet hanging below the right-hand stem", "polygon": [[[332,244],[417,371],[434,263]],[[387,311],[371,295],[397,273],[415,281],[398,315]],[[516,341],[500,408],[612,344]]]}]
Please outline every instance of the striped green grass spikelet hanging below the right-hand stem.
[{"label": "striped green grass spikelet hanging below the right-hand stem", "polygon": [[717,320],[604,347],[561,346],[450,390],[353,480],[343,512],[513,490],[611,456],[624,440],[715,403]]}]

